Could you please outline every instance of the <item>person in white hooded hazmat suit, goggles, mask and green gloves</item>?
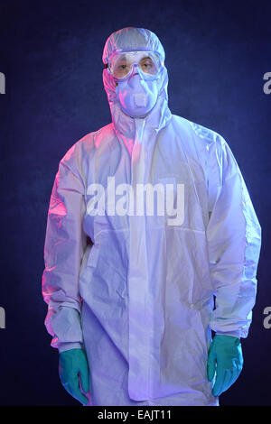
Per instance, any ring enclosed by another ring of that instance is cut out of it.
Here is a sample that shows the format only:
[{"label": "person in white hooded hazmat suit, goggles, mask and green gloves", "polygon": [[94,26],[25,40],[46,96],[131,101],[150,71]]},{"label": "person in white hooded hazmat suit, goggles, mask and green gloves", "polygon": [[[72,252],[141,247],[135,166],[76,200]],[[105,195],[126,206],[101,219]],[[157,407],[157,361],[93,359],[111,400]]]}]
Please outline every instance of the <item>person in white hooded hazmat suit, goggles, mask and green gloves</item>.
[{"label": "person in white hooded hazmat suit, goggles, mask and green gloves", "polygon": [[261,227],[228,143],[171,113],[164,58],[154,32],[109,36],[112,123],[72,145],[51,192],[45,325],[90,406],[216,406],[242,369]]}]

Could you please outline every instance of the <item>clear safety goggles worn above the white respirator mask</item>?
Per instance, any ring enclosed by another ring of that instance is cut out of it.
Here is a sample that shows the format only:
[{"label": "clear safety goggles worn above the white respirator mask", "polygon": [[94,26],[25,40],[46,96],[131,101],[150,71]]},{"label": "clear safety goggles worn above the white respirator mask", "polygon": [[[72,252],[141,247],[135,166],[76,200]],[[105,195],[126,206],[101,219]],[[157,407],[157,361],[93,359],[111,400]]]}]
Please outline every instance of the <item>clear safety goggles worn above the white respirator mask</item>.
[{"label": "clear safety goggles worn above the white respirator mask", "polygon": [[116,51],[106,64],[108,72],[117,79],[129,78],[133,69],[143,73],[144,78],[156,78],[164,63],[155,51]]}]

